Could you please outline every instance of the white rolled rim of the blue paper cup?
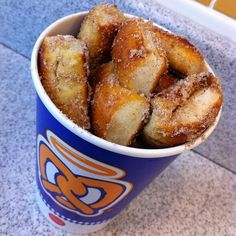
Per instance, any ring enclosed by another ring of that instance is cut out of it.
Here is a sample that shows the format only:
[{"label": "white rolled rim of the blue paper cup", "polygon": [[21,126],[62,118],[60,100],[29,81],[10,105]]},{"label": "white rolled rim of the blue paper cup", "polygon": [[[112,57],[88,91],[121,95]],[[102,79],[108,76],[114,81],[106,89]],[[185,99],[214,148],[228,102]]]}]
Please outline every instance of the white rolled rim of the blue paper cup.
[{"label": "white rolled rim of the blue paper cup", "polygon": [[[219,122],[220,115],[222,108],[220,109],[215,122],[208,127],[208,129],[196,140],[193,142],[187,142],[182,145],[178,145],[175,147],[169,147],[169,148],[159,148],[159,149],[144,149],[144,148],[134,148],[134,147],[127,147],[119,144],[115,144],[112,142],[109,142],[107,140],[104,140],[100,137],[97,137],[96,135],[90,133],[89,131],[86,131],[79,127],[77,124],[75,124],[73,121],[71,121],[69,118],[66,117],[56,106],[55,104],[51,101],[49,96],[47,95],[46,91],[43,88],[43,85],[41,83],[39,73],[38,73],[38,51],[41,46],[41,43],[43,39],[48,35],[48,33],[61,24],[62,22],[66,20],[70,20],[73,18],[77,17],[84,17],[86,16],[88,11],[83,11],[83,12],[78,12],[75,14],[71,14],[65,17],[62,17],[58,19],[57,21],[53,22],[51,25],[49,25],[38,37],[33,50],[32,50],[32,55],[31,55],[31,74],[32,74],[32,79],[34,83],[34,87],[36,89],[36,92],[38,96],[40,97],[41,101],[43,104],[46,106],[48,111],[54,116],[54,118],[61,123],[64,127],[66,127],[68,130],[70,130],[72,133],[74,133],[76,136],[79,136],[80,138],[86,140],[87,142],[98,146],[102,149],[114,152],[114,153],[119,153],[131,157],[137,157],[137,158],[162,158],[162,157],[170,157],[174,155],[178,155],[185,150],[190,150],[193,149],[194,147],[198,146],[199,144],[203,143],[209,135],[213,132],[215,129],[217,123]],[[137,17],[133,16],[130,14],[125,14],[128,17]],[[158,27],[163,28],[162,26],[154,23]],[[163,28],[165,29],[165,28]],[[167,30],[167,29],[165,29]],[[211,72],[214,74],[208,63],[206,62],[206,65],[209,67]]]}]

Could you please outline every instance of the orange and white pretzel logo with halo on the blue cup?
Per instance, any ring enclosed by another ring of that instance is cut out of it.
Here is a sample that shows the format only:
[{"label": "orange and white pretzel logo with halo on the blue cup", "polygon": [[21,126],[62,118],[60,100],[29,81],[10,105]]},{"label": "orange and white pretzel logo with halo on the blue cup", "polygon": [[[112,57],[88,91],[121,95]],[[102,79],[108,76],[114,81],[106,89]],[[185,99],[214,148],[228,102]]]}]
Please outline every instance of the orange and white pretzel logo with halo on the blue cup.
[{"label": "orange and white pretzel logo with halo on the blue cup", "polygon": [[126,173],[94,160],[47,130],[38,135],[38,170],[46,194],[64,209],[93,217],[120,202],[132,184],[120,180]]}]

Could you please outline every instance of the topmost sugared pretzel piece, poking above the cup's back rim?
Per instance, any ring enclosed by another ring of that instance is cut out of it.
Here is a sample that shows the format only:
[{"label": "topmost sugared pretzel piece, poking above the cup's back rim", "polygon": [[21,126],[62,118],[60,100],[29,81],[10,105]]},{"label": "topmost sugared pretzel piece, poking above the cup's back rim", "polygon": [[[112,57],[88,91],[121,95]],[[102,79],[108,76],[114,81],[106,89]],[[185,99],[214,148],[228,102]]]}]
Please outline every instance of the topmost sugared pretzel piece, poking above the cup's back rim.
[{"label": "topmost sugared pretzel piece, poking above the cup's back rim", "polygon": [[124,14],[115,5],[99,4],[83,20],[78,37],[87,44],[92,71],[109,57],[113,40],[124,19]]}]

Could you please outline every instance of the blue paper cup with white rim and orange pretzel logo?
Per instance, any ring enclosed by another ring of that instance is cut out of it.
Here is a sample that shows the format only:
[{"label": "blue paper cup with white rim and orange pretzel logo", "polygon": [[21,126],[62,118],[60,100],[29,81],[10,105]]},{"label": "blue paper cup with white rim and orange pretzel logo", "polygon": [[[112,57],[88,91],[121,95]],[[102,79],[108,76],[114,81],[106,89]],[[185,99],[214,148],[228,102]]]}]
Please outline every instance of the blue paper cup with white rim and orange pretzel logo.
[{"label": "blue paper cup with white rim and orange pretzel logo", "polygon": [[194,143],[165,149],[121,146],[74,124],[46,94],[37,59],[45,36],[76,35],[86,14],[66,16],[46,28],[31,58],[37,92],[37,202],[51,223],[74,233],[107,225],[180,153],[202,143],[220,117]]}]

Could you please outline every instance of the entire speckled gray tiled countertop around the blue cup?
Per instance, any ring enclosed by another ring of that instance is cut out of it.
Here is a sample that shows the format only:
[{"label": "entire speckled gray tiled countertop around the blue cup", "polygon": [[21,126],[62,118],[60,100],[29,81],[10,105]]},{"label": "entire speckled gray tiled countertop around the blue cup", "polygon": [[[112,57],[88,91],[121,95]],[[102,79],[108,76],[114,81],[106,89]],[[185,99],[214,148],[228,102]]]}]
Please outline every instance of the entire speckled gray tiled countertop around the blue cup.
[{"label": "entire speckled gray tiled countertop around the blue cup", "polygon": [[[35,203],[35,93],[29,57],[49,23],[97,2],[1,1],[0,235],[69,235],[50,225]],[[110,2],[195,43],[222,78],[225,103],[207,142],[179,156],[94,235],[236,235],[236,45],[155,1]]]}]

